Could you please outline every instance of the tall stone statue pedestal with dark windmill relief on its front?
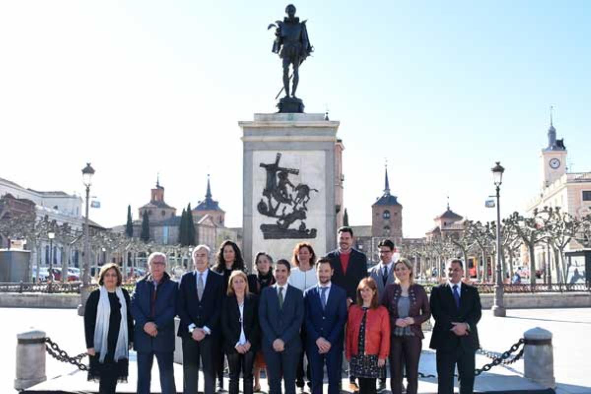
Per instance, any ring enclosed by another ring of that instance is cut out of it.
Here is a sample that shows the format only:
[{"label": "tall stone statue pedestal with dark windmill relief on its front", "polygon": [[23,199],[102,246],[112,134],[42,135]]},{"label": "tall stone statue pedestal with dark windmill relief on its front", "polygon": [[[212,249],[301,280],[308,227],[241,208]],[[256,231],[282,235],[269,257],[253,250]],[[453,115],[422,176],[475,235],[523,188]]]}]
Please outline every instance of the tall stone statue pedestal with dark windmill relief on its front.
[{"label": "tall stone statue pedestal with dark windmill relief on its front", "polygon": [[[257,113],[238,122],[243,141],[243,255],[291,259],[298,242],[336,248],[336,133],[322,113]],[[340,159],[340,158],[339,158]],[[338,178],[338,179],[337,179]]]}]

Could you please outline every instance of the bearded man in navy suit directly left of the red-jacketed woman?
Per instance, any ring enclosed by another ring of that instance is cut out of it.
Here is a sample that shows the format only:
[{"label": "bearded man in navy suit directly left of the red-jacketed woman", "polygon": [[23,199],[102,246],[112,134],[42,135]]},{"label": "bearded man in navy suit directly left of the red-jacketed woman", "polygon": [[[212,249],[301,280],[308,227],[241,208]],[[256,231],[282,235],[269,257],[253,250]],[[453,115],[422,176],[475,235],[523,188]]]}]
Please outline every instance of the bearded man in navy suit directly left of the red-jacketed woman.
[{"label": "bearded man in navy suit directly left of the red-jacketed woman", "polygon": [[329,394],[340,392],[340,358],[347,322],[347,293],[330,282],[332,274],[330,260],[320,259],[316,263],[318,285],[307,289],[304,295],[306,350],[312,375],[312,394],[322,394],[325,362]]}]

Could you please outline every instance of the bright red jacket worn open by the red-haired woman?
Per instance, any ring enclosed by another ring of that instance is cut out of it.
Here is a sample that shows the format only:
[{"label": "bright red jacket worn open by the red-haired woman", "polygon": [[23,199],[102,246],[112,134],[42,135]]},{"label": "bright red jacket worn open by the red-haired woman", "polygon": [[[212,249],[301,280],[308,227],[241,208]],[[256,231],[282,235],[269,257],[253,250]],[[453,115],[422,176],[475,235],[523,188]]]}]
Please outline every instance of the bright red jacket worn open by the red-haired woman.
[{"label": "bright red jacket worn open by the red-haired woman", "polygon": [[[345,356],[347,360],[359,353],[359,328],[363,319],[363,309],[351,305],[347,321]],[[365,322],[365,354],[377,354],[378,359],[386,359],[390,352],[390,319],[388,310],[381,305],[368,310]]]}]

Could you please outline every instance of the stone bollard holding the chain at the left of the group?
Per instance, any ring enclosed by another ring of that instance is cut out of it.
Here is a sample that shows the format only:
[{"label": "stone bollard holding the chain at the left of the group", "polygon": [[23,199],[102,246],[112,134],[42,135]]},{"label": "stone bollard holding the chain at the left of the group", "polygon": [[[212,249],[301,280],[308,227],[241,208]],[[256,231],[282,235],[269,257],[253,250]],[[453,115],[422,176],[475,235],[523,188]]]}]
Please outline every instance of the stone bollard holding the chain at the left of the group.
[{"label": "stone bollard holding the chain at the left of the group", "polygon": [[24,390],[45,382],[45,333],[28,331],[17,334],[17,378],[14,388]]}]

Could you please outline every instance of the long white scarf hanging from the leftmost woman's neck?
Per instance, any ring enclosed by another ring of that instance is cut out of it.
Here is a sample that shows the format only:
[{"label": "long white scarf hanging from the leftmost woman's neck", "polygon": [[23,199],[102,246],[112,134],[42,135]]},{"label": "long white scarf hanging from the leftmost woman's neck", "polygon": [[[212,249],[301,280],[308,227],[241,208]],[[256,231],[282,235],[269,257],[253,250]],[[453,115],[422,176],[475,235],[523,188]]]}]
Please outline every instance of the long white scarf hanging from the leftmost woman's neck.
[{"label": "long white scarf hanging from the leftmost woman's neck", "polygon": [[[109,318],[111,317],[111,304],[109,303],[109,293],[105,286],[100,286],[99,305],[96,309],[95,323],[95,349],[100,351],[99,362],[105,362],[107,354],[107,336],[109,334]],[[115,346],[115,362],[121,359],[128,359],[128,333],[127,333],[127,304],[121,287],[115,289],[115,294],[121,304],[121,323],[119,323],[119,336]]]}]

